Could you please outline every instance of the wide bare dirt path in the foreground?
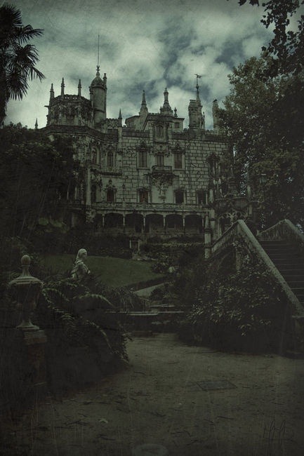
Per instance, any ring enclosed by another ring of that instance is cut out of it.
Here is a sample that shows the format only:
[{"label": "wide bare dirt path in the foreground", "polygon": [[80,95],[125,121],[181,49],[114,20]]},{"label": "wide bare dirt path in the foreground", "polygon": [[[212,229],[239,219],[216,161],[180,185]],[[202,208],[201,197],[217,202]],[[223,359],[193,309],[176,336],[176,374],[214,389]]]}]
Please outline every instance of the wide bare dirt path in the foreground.
[{"label": "wide bare dirt path in the foreground", "polygon": [[223,354],[172,334],[138,337],[128,354],[124,372],[34,408],[0,454],[131,456],[150,443],[167,453],[134,454],[304,455],[303,360]]}]

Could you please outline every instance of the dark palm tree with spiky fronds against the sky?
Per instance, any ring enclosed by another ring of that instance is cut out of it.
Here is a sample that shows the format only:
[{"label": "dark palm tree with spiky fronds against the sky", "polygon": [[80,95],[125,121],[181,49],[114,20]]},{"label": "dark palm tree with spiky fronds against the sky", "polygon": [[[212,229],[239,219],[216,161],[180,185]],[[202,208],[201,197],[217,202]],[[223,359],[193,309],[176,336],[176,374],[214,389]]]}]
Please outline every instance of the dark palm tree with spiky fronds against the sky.
[{"label": "dark palm tree with spiky fronds against the sky", "polygon": [[44,79],[44,74],[34,66],[39,60],[37,49],[27,43],[41,34],[42,29],[22,25],[21,12],[15,6],[0,7],[0,125],[8,100],[21,100],[26,95],[28,79]]}]

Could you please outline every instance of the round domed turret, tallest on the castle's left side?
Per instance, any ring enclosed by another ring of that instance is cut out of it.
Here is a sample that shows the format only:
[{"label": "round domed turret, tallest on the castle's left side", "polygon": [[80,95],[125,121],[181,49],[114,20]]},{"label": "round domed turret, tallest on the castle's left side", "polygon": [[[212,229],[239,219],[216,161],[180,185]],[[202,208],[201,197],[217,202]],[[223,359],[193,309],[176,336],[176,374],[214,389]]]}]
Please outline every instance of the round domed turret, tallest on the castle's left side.
[{"label": "round domed turret, tallest on the castle's left side", "polygon": [[93,108],[93,126],[104,130],[107,117],[107,76],[100,78],[99,66],[96,76],[90,86],[91,103]]}]

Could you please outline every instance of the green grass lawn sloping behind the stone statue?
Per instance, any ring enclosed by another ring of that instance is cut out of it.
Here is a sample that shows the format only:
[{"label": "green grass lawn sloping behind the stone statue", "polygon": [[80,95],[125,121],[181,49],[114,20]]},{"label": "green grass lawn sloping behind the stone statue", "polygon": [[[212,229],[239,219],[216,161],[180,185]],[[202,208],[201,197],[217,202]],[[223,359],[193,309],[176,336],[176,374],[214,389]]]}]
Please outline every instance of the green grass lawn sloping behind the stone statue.
[{"label": "green grass lawn sloping behind the stone statue", "polygon": [[[44,264],[54,273],[64,273],[72,269],[74,259],[74,255],[46,255]],[[111,287],[126,286],[162,277],[161,274],[151,270],[150,262],[89,256],[86,264],[95,276],[100,277],[100,281]]]}]

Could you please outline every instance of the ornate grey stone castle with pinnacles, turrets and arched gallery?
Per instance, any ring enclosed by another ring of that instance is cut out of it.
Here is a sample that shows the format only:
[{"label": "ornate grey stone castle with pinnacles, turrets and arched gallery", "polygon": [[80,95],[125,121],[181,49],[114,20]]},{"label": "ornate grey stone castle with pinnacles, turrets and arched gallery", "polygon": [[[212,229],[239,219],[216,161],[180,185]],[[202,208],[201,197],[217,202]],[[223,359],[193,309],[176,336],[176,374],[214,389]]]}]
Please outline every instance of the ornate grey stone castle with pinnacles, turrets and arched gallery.
[{"label": "ornate grey stone castle with pinnacles, turrets and arched gallery", "polygon": [[206,130],[198,83],[188,128],[171,108],[167,89],[158,113],[149,112],[144,91],[138,115],[125,126],[121,111],[107,119],[107,76],[100,77],[99,67],[89,93],[89,99],[81,94],[79,80],[77,95],[65,94],[62,79],[55,96],[52,84],[42,129],[74,141],[71,226],[85,217],[96,234],[202,236],[209,246],[237,218],[252,218],[253,204],[237,194],[230,172],[232,152],[220,134],[218,103],[213,130]]}]

